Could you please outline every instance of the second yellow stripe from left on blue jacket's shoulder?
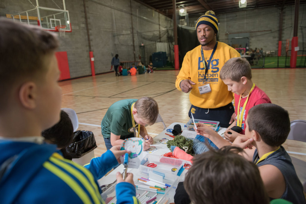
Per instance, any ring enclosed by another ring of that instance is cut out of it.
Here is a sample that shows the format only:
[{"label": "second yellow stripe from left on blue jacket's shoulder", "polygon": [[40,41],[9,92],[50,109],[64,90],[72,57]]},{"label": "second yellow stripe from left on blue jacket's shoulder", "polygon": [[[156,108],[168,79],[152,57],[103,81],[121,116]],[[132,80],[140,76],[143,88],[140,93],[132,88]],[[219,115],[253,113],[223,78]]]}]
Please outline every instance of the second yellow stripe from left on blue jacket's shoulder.
[{"label": "second yellow stripe from left on blue jacket's shoulder", "polygon": [[[95,192],[94,187],[89,183],[89,180],[82,173],[74,169],[72,166],[64,162],[62,159],[57,159],[54,157],[50,157],[49,159],[51,162],[54,162],[54,164],[62,167],[63,169],[71,173],[74,177],[76,177],[81,182],[81,184],[83,184],[83,186],[88,190],[94,203],[101,203],[102,199],[101,199],[100,194],[99,193],[97,194]],[[95,184],[94,186],[97,186],[97,185]]]}]

